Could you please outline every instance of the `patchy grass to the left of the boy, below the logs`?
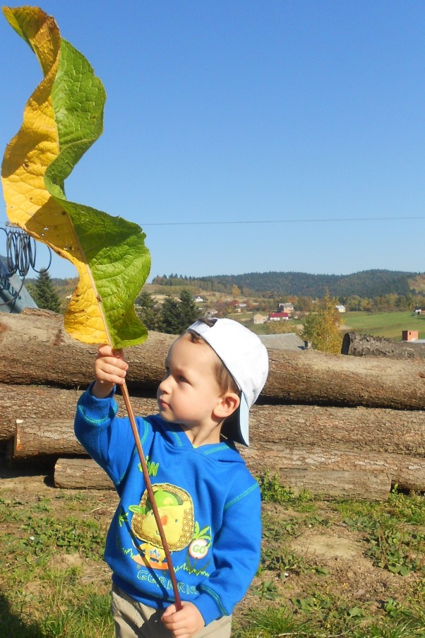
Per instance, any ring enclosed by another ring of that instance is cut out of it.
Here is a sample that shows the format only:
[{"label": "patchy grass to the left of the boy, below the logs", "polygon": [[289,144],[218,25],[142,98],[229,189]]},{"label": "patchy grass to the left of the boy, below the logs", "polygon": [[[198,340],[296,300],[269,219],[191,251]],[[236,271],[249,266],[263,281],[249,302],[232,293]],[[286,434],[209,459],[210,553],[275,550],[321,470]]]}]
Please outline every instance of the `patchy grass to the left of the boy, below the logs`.
[{"label": "patchy grass to the left of the boy, below the logs", "polygon": [[98,572],[104,521],[83,493],[0,499],[0,638],[108,638],[109,578]]}]

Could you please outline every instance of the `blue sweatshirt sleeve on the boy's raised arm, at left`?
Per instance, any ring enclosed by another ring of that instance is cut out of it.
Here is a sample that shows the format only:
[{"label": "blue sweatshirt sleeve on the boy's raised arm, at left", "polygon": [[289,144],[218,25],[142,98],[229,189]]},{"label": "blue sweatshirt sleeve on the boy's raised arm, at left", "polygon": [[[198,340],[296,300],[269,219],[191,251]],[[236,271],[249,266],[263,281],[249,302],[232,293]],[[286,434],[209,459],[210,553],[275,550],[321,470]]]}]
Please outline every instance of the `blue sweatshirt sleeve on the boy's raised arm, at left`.
[{"label": "blue sweatshirt sleeve on the boy's raised arm, at left", "polygon": [[[119,486],[134,449],[134,437],[128,418],[117,418],[114,393],[96,398],[91,385],[77,403],[74,430],[78,441]],[[145,424],[145,421],[142,420]],[[146,425],[146,424],[145,424]]]}]

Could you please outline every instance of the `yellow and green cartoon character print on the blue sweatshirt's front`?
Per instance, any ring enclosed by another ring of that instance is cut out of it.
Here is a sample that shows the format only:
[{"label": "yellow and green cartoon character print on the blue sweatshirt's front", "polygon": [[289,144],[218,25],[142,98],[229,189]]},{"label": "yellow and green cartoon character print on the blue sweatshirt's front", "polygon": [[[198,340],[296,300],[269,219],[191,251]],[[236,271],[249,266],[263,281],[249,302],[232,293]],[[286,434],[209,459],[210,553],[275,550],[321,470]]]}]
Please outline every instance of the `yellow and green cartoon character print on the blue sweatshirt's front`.
[{"label": "yellow and green cartoon character print on the blue sweatshirt's front", "polygon": [[[178,551],[188,548],[186,569],[192,570],[193,562],[203,559],[208,553],[210,528],[200,530],[199,524],[195,523],[191,495],[183,488],[170,483],[157,483],[152,485],[152,491],[169,549]],[[143,492],[140,504],[131,505],[128,509],[133,513],[131,531],[138,549],[138,555],[134,555],[133,560],[153,569],[167,569],[167,557],[148,491]]]}]

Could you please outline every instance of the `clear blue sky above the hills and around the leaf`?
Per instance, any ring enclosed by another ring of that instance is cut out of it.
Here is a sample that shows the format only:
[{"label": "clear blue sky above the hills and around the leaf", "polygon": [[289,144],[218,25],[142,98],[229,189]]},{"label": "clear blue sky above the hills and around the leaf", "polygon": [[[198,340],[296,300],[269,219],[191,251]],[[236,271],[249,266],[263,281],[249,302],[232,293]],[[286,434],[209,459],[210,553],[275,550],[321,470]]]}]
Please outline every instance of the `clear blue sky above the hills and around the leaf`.
[{"label": "clear blue sky above the hills and around the leaf", "polygon": [[[425,271],[423,0],[38,6],[107,91],[66,195],[142,226],[150,278]],[[3,16],[0,59],[2,154],[42,77]]]}]

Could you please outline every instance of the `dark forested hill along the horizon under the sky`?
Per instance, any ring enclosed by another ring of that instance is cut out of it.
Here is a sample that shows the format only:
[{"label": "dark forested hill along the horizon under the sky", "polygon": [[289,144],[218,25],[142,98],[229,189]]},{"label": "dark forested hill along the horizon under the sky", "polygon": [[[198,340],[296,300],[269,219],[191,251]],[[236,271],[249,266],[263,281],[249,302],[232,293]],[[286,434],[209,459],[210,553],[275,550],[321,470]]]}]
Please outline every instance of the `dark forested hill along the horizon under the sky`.
[{"label": "dark forested hill along the horizon under the sky", "polygon": [[420,273],[368,270],[351,275],[312,275],[309,273],[246,273],[208,277],[155,277],[152,283],[197,285],[203,290],[230,292],[237,285],[242,293],[277,293],[297,297],[320,298],[326,290],[333,297],[380,297],[382,295],[424,293],[425,276]]}]

